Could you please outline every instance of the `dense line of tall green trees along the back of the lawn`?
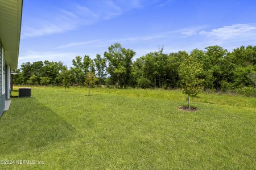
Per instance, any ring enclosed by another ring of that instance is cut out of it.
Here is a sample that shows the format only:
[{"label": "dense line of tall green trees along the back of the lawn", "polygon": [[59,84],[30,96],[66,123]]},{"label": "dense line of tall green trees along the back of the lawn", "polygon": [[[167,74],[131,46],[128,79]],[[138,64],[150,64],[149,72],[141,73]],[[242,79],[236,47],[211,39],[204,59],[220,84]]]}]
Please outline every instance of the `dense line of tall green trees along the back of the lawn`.
[{"label": "dense line of tall green trees along the back of the lawn", "polygon": [[[85,75],[93,73],[98,85],[115,88],[180,88],[181,65],[192,58],[201,66],[197,78],[203,80],[204,90],[236,90],[256,86],[256,46],[241,46],[232,52],[221,46],[209,46],[205,50],[194,49],[191,53],[179,51],[165,54],[163,48],[135,59],[134,50],[119,43],[109,46],[104,56],[97,54],[77,56],[68,70],[62,62],[26,62],[14,75],[15,84],[52,84],[68,87],[69,84],[84,86]],[[189,68],[187,68],[189,69]]]}]

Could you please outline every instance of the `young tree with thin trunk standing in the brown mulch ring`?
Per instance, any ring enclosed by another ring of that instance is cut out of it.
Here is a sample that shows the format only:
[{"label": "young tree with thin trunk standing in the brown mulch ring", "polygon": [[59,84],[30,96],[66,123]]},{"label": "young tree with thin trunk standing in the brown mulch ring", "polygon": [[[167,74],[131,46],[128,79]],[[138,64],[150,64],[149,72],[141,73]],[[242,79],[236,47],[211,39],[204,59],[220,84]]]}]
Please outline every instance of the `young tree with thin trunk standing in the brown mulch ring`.
[{"label": "young tree with thin trunk standing in the brown mulch ring", "polygon": [[179,77],[182,83],[182,92],[188,95],[188,109],[190,107],[190,97],[197,96],[203,90],[203,79],[199,79],[199,75],[203,71],[203,67],[192,56],[189,56],[179,67]]}]

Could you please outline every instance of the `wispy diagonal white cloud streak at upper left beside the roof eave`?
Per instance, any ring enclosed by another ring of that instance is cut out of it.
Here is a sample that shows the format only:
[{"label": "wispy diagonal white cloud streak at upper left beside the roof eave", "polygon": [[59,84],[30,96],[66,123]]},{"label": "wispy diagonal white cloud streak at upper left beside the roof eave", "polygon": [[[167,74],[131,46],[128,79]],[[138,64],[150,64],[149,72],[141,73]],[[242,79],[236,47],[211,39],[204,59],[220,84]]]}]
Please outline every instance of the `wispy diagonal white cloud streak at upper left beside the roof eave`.
[{"label": "wispy diagonal white cloud streak at upper left beside the roof eave", "polygon": [[82,25],[90,25],[97,23],[100,20],[115,18],[122,15],[123,12],[138,8],[139,6],[141,6],[139,0],[103,0],[100,3],[92,3],[90,7],[75,4],[70,5],[69,9],[45,11],[46,13],[51,14],[48,18],[42,15],[41,18],[37,17],[31,20],[25,20],[22,27],[21,38],[25,39],[27,37],[38,37],[67,32],[79,28]]}]

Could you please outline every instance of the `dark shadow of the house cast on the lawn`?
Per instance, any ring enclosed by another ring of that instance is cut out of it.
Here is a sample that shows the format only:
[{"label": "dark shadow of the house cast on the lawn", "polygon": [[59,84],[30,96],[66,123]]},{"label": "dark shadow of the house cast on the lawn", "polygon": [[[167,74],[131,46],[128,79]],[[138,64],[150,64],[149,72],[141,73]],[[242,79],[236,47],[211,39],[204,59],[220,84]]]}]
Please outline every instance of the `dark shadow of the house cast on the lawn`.
[{"label": "dark shadow of the house cast on the lawn", "polygon": [[75,128],[34,97],[12,99],[0,120],[0,157],[69,141]]}]

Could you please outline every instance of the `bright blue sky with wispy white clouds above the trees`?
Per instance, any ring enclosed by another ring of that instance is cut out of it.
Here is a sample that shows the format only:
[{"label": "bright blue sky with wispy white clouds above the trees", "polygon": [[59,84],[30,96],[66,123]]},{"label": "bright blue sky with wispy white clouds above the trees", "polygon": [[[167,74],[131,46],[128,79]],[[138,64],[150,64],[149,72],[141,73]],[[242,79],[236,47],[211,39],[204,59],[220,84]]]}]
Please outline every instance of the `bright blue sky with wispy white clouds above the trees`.
[{"label": "bright blue sky with wispy white clouds above the trees", "polygon": [[40,60],[72,66],[120,42],[136,57],[220,45],[256,45],[256,1],[24,0],[19,66]]}]

